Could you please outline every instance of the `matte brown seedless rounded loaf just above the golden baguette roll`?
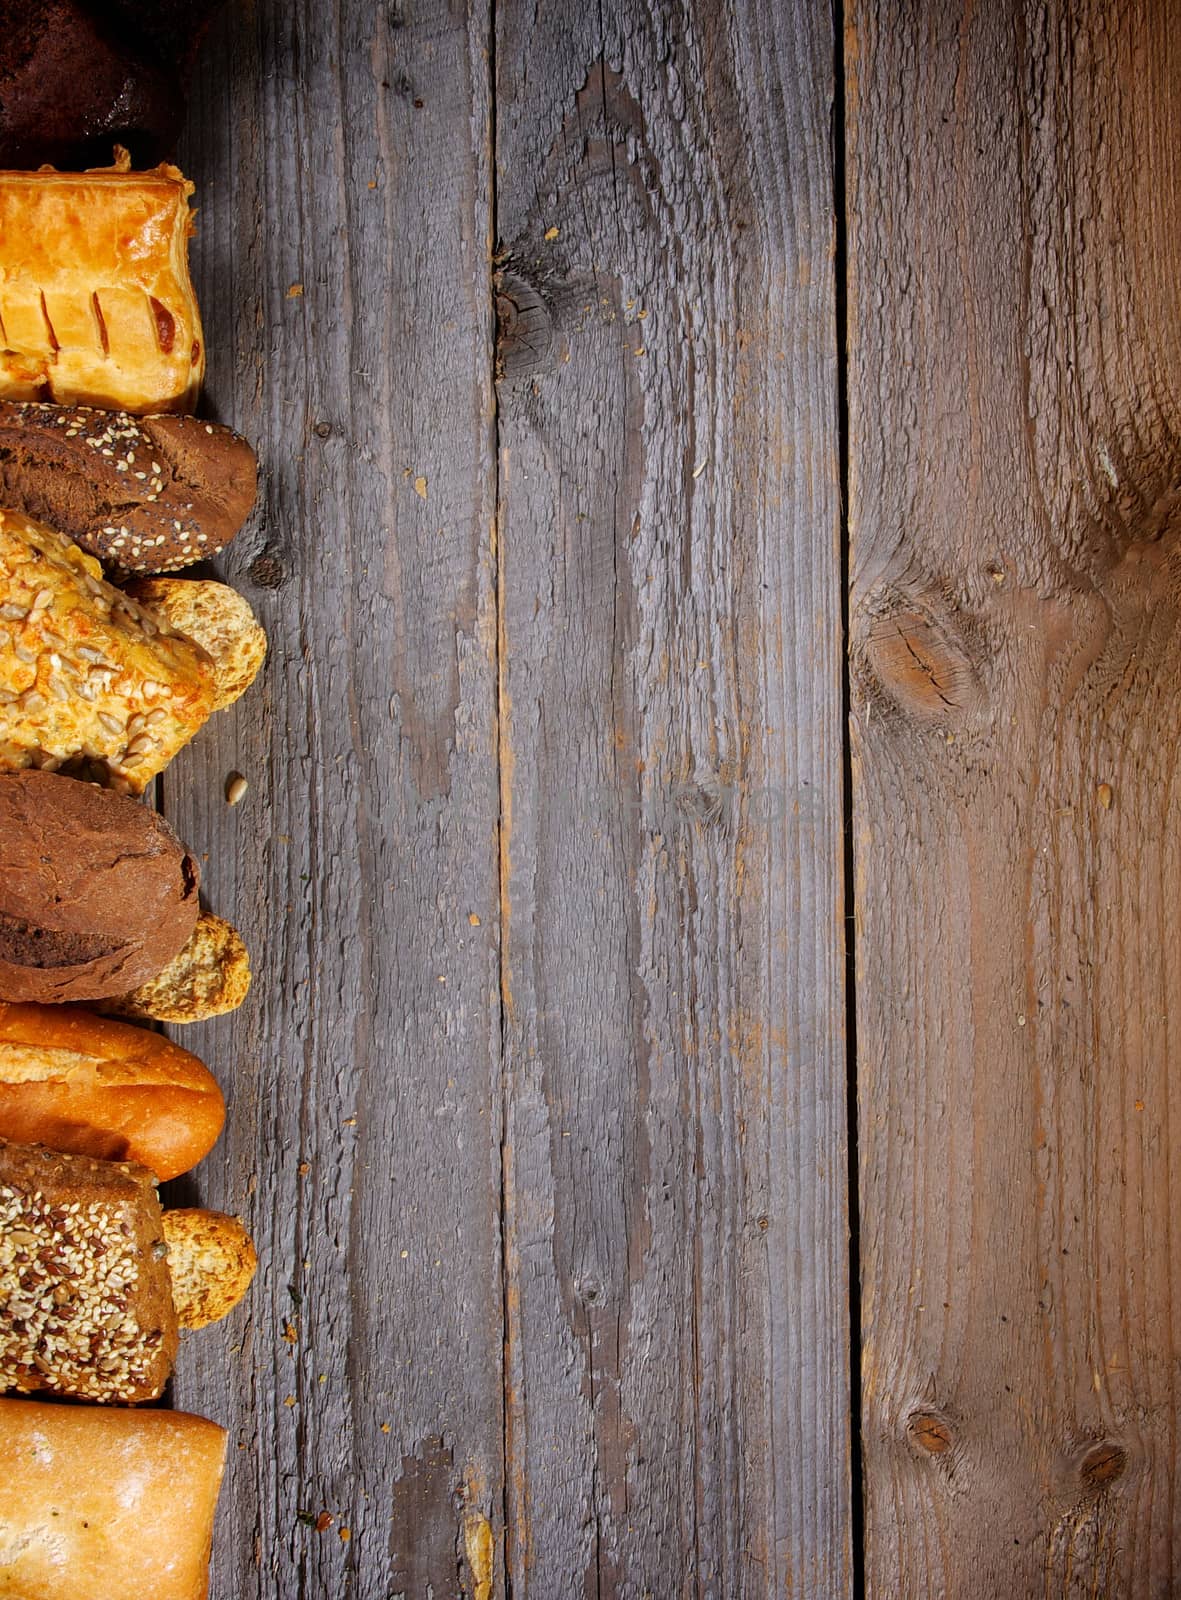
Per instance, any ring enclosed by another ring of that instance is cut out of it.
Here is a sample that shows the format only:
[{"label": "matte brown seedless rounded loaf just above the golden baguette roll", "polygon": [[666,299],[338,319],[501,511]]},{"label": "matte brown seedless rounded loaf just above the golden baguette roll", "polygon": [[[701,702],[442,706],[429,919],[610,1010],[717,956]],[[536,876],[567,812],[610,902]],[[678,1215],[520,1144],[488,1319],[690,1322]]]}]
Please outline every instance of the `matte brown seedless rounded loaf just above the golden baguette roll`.
[{"label": "matte brown seedless rounded loaf just above the golden baguette roll", "polygon": [[0,1000],[125,994],[184,947],[198,885],[147,806],[54,773],[0,773]]}]

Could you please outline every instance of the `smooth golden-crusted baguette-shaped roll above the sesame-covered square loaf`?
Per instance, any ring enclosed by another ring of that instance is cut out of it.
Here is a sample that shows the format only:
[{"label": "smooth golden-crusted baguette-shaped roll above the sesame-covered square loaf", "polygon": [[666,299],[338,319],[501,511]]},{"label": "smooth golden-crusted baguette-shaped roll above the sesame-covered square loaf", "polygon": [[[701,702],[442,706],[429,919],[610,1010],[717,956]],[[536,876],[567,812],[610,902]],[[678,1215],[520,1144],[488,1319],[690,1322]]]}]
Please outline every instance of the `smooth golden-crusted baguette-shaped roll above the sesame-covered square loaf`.
[{"label": "smooth golden-crusted baguette-shaped roll above the sesame-covered square loaf", "polygon": [[82,1006],[0,1005],[0,1138],[138,1162],[166,1182],[224,1120],[218,1080],[163,1034]]}]

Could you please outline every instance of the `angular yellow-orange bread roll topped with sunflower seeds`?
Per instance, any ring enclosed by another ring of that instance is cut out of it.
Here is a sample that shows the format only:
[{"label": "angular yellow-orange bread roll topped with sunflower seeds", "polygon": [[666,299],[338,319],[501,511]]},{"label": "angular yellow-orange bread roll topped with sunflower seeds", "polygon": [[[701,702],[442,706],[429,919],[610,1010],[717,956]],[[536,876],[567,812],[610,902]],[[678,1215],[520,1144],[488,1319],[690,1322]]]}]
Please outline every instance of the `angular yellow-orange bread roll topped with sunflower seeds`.
[{"label": "angular yellow-orange bread roll topped with sunflower seeds", "polygon": [[210,656],[50,528],[0,510],[0,771],[142,794],[213,710]]}]

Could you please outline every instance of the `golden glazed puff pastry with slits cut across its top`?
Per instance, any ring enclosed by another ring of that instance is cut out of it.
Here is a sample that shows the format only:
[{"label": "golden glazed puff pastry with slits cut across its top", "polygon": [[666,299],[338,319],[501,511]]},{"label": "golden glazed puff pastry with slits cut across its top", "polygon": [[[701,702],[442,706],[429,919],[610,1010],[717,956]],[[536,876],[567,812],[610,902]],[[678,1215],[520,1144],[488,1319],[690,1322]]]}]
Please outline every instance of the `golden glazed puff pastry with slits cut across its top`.
[{"label": "golden glazed puff pastry with slits cut across its top", "polygon": [[192,187],[174,166],[0,171],[0,398],[192,411]]}]

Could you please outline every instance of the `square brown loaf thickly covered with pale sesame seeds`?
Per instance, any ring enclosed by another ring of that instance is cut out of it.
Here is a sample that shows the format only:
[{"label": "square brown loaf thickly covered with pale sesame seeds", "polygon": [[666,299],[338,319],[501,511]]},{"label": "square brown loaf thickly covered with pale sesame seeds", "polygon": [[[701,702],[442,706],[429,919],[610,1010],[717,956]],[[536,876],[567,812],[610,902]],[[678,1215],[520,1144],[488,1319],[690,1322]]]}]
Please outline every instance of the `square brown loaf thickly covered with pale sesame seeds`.
[{"label": "square brown loaf thickly covered with pale sesame seeds", "polygon": [[146,1166],[0,1139],[0,1390],[155,1400],[178,1341],[166,1256]]}]

